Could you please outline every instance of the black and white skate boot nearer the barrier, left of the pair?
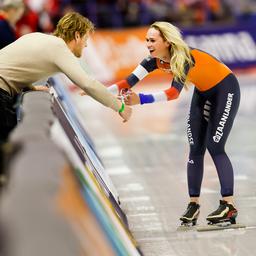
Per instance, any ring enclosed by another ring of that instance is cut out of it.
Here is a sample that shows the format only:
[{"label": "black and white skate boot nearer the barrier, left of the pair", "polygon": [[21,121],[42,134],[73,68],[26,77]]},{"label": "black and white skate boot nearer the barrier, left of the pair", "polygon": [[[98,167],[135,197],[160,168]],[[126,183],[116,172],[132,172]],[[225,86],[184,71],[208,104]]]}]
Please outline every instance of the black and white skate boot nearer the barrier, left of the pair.
[{"label": "black and white skate boot nearer the barrier, left of the pair", "polygon": [[196,225],[199,213],[200,205],[195,202],[190,202],[184,214],[180,217],[182,226],[194,226]]}]

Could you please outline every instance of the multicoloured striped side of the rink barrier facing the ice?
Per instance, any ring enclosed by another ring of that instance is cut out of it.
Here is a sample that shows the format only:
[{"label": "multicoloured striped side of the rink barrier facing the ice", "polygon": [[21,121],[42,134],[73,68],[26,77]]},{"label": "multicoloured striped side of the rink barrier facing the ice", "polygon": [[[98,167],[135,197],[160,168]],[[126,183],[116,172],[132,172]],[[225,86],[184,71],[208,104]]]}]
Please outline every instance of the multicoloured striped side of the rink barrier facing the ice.
[{"label": "multicoloured striped side of the rink barrier facing the ice", "polygon": [[[60,144],[79,176],[83,196],[105,232],[116,255],[142,255],[131,235],[127,218],[122,211],[118,194],[104,169],[95,149],[86,140],[79,115],[68,94],[68,85],[58,76],[51,79],[52,92],[55,95],[53,110],[63,130]],[[57,132],[60,137],[60,129]],[[56,136],[55,136],[56,137]],[[64,141],[66,141],[64,143]],[[91,139],[88,140],[91,142]]]}]

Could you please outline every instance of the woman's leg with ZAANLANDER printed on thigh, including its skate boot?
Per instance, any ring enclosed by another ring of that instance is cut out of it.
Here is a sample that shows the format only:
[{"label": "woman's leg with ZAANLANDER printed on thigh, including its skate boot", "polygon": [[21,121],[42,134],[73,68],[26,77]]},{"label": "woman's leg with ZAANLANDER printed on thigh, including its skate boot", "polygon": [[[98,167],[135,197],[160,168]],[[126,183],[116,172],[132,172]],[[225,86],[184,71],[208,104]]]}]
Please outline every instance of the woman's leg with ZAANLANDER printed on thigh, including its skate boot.
[{"label": "woman's leg with ZAANLANDER printed on thigh, including its skate boot", "polygon": [[207,149],[217,169],[223,200],[220,201],[218,209],[209,214],[207,220],[219,222],[230,219],[235,223],[237,210],[233,201],[234,173],[231,161],[225,152],[225,144],[240,102],[239,85],[233,75],[228,76],[218,85],[212,102],[214,109],[209,122]]}]

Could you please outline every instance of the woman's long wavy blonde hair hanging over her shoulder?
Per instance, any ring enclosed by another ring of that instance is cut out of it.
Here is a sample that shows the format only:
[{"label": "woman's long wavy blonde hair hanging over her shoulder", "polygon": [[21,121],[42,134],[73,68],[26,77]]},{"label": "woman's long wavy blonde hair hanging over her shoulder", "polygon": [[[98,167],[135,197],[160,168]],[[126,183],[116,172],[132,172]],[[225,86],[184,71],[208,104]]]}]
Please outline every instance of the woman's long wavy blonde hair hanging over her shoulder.
[{"label": "woman's long wavy blonde hair hanging over her shoulder", "polygon": [[186,66],[191,67],[193,60],[186,42],[183,40],[180,30],[169,22],[154,22],[151,28],[160,32],[163,39],[170,43],[170,68],[175,81],[181,81],[187,88]]}]

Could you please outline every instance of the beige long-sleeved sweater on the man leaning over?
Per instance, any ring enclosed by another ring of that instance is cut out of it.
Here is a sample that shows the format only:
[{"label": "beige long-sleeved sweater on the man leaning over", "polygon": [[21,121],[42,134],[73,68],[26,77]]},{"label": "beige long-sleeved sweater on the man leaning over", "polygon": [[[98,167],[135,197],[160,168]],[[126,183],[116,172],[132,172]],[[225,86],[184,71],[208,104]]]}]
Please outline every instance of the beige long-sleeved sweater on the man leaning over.
[{"label": "beige long-sleeved sweater on the man leaning over", "polygon": [[63,39],[31,33],[0,50],[0,88],[11,95],[58,72],[67,75],[95,100],[118,111],[115,96],[82,69]]}]

